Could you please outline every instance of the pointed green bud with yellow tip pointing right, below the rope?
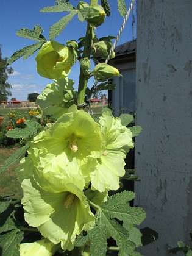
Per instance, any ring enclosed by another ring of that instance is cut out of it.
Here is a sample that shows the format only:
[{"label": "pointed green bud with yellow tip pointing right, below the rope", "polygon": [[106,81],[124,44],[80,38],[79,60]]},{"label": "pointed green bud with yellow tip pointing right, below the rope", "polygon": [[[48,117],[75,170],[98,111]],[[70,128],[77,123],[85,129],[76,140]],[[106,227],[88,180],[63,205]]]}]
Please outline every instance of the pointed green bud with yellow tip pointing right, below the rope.
[{"label": "pointed green bud with yellow tip pointing right, below the rope", "polygon": [[93,76],[99,81],[105,81],[114,76],[120,76],[118,69],[106,63],[99,63],[93,69]]}]

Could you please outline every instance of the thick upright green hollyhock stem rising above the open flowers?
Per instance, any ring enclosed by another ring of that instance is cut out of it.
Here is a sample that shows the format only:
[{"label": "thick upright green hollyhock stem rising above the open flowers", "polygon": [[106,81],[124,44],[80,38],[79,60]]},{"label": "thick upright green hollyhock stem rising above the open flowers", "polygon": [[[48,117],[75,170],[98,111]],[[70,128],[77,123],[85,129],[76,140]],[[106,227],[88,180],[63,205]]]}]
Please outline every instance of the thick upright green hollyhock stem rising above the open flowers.
[{"label": "thick upright green hollyhock stem rising above the open flowers", "polygon": [[[90,6],[98,4],[98,0],[90,0]],[[93,41],[93,31],[94,27],[87,24],[87,31],[85,35],[85,45],[82,58],[91,57],[91,46]],[[79,74],[79,85],[78,85],[78,96],[77,96],[77,105],[84,103],[85,101],[85,90],[87,88],[88,76],[84,74],[83,70],[80,69]]]}]

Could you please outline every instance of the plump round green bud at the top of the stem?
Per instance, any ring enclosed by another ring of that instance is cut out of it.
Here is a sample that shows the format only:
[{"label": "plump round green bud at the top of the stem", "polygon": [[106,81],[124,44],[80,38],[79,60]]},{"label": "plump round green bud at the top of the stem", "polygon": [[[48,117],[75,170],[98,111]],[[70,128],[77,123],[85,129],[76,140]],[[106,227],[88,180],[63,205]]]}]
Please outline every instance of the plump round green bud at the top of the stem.
[{"label": "plump round green bud at the top of the stem", "polygon": [[98,27],[102,23],[104,23],[105,16],[106,14],[102,6],[95,5],[95,6],[91,6],[91,10],[90,12],[88,12],[86,20],[88,24],[90,24],[91,26]]}]

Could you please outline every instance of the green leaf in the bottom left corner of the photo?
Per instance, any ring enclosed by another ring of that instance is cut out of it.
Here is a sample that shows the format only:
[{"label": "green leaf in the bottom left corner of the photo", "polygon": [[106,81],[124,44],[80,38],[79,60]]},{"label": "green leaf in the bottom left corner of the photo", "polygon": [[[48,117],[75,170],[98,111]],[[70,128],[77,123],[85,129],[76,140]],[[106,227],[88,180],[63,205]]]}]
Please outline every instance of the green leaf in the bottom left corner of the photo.
[{"label": "green leaf in the bottom left corner of the photo", "polygon": [[12,230],[1,235],[0,248],[1,256],[20,256],[20,242],[23,240],[23,232]]}]

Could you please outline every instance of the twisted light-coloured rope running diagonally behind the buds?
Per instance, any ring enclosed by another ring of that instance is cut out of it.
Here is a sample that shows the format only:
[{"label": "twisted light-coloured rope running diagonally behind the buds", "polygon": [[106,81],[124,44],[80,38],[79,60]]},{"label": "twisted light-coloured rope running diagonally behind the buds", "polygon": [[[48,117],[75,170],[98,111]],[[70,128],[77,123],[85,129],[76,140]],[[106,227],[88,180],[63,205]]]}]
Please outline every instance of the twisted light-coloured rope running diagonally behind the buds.
[{"label": "twisted light-coloured rope running diagonally behind the buds", "polygon": [[[126,14],[126,16],[125,16],[125,18],[123,20],[123,24],[121,26],[121,29],[119,30],[119,33],[118,33],[118,35],[116,37],[116,40],[115,40],[115,43],[113,44],[112,48],[110,49],[110,52],[108,54],[107,59],[105,60],[105,63],[108,63],[108,61],[112,57],[112,54],[113,54],[113,52],[115,50],[115,47],[116,47],[116,44],[118,43],[119,37],[121,36],[121,33],[123,32],[124,26],[126,25],[126,22],[127,22],[128,18],[129,18],[129,15],[130,15],[130,11],[132,10],[134,3],[135,3],[135,0],[132,0],[132,2],[130,4],[130,7],[129,7],[129,10],[127,11],[127,14]],[[98,81],[95,80],[94,83],[93,83],[93,88],[95,88],[97,84],[98,84]],[[94,89],[93,89],[93,93],[94,93]]]}]

